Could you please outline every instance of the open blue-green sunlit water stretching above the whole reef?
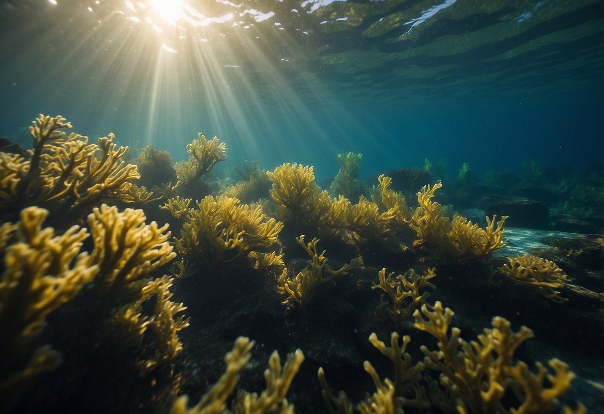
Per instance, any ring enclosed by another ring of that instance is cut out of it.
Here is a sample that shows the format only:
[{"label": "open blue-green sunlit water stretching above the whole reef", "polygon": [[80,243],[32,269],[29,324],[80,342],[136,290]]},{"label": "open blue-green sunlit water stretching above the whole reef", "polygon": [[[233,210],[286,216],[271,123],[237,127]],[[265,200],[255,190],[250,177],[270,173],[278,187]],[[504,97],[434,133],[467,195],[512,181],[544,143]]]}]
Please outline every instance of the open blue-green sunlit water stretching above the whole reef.
[{"label": "open blue-green sunlit water stretching above the whole reef", "polygon": [[226,165],[320,177],[342,151],[362,174],[602,157],[599,1],[189,2],[173,24],[144,2],[57,3],[3,4],[4,135],[61,114],[184,159],[202,131]]}]

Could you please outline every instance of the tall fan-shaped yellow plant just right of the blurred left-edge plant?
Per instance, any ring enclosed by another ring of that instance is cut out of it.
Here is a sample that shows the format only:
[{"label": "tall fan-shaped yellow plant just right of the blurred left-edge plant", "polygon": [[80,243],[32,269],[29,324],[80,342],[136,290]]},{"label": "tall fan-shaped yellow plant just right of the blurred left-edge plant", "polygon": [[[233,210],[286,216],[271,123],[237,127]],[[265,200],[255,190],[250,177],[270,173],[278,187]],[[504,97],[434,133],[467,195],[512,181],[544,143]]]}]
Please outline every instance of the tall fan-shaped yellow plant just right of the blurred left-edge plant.
[{"label": "tall fan-shaped yellow plant just right of the blurred left-edge plant", "polygon": [[[155,277],[176,256],[168,225],[147,224],[140,209],[101,205],[88,216],[88,226],[91,258],[99,269],[90,290],[96,317],[88,323],[103,325],[104,342],[113,347],[140,346],[144,340],[136,358],[142,371],[172,360],[182,349],[178,331],[188,319],[176,317],[186,307],[170,300],[173,277]],[[154,304],[152,311],[148,304]]]}]

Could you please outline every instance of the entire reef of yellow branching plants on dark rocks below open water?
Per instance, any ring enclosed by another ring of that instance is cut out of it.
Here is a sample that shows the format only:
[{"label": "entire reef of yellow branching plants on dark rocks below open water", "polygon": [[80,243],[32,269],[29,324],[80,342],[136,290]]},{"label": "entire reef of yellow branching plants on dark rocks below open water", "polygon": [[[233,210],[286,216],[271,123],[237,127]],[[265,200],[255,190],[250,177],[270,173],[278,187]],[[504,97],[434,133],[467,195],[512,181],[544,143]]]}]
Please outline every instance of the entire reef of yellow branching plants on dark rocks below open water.
[{"label": "entire reef of yellow branching plants on dark rocks below open water", "polygon": [[[522,250],[521,209],[483,214],[521,197],[467,165],[362,182],[342,153],[329,190],[293,162],[236,182],[208,174],[218,138],[126,164],[69,128],[40,115],[0,152],[0,412],[602,412],[597,205],[597,234]],[[588,174],[547,183],[568,199],[545,225],[602,200]]]}]

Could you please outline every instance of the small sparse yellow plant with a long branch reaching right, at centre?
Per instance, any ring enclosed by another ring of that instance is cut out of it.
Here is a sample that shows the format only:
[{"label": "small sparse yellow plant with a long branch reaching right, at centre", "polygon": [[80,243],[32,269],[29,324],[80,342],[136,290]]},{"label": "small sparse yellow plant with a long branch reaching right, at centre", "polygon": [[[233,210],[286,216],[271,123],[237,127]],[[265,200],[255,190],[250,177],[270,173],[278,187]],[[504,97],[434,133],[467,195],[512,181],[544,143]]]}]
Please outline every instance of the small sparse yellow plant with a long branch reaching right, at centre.
[{"label": "small sparse yellow plant with a long branch reaching right, at centre", "polygon": [[317,254],[316,244],[319,242],[318,238],[313,238],[312,241],[306,243],[304,235],[301,235],[299,238],[296,238],[296,241],[306,250],[312,261],[303,270],[298,272],[294,278],[288,276],[287,269],[283,269],[283,273],[278,278],[278,284],[285,293],[289,293],[288,299],[293,299],[300,304],[303,312],[306,312],[306,305],[312,299],[313,291],[318,285],[332,281],[340,276],[345,276],[350,270],[362,269],[364,267],[362,259],[357,257],[350,261],[350,263],[344,264],[338,270],[333,270],[327,264],[325,250]]}]

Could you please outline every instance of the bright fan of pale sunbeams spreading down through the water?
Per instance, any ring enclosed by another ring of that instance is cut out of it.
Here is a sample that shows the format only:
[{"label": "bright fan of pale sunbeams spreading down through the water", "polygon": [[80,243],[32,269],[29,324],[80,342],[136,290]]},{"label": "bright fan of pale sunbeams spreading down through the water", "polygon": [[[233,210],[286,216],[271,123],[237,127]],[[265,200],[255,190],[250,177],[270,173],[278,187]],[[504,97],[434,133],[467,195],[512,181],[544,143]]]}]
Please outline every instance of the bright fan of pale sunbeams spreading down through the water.
[{"label": "bright fan of pale sunbeams spreading down through the water", "polygon": [[[120,101],[137,101],[135,119],[148,119],[136,129],[141,145],[168,148],[178,142],[181,148],[169,149],[184,157],[185,142],[200,130],[226,135],[230,154],[245,159],[267,159],[269,148],[293,147],[300,161],[310,162],[324,151],[318,142],[327,142],[335,158],[336,145],[329,144],[331,138],[312,115],[313,107],[288,80],[288,68],[300,63],[304,51],[283,33],[274,11],[230,2],[160,0],[115,2],[114,7],[98,20],[100,27],[120,33],[106,50],[109,60],[104,65],[119,62],[125,76],[117,80],[119,88],[112,78],[109,88],[126,92]],[[278,59],[272,56],[274,49],[283,51]],[[127,93],[132,89],[136,91]],[[329,100],[329,95],[316,95],[313,105],[327,105]],[[267,104],[271,112],[258,110]],[[327,118],[355,122],[335,102],[329,105]],[[312,140],[304,132],[309,127]],[[178,140],[169,135],[178,135]],[[265,135],[283,139],[269,143]]]}]

